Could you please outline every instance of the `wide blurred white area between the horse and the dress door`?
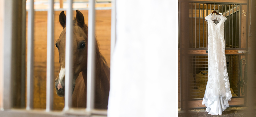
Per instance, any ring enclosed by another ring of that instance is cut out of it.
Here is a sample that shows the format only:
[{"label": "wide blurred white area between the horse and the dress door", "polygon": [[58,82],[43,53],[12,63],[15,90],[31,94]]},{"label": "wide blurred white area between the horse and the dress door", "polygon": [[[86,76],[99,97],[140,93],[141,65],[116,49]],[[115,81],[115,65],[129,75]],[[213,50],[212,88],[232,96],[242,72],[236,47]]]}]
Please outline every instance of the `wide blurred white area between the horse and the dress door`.
[{"label": "wide blurred white area between the horse and the dress door", "polygon": [[172,0],[116,1],[108,117],[177,116],[177,10]]}]

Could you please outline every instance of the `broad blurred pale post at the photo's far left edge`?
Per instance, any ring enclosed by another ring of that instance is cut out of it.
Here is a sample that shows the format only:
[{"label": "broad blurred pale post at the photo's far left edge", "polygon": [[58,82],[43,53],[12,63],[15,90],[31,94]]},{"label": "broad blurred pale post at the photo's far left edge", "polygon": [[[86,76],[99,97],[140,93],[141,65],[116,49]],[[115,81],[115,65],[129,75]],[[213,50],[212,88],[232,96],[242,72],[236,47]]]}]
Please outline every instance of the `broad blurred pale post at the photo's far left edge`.
[{"label": "broad blurred pale post at the photo's far left edge", "polygon": [[[11,95],[11,79],[12,79],[12,40],[13,40],[13,0],[1,1],[0,12],[3,17],[1,27],[2,40],[0,40],[0,111],[8,110],[12,107],[12,95]],[[1,28],[0,27],[0,28]],[[2,63],[2,64],[1,64]],[[3,65],[3,66],[2,66]],[[1,115],[1,114],[0,114]]]}]

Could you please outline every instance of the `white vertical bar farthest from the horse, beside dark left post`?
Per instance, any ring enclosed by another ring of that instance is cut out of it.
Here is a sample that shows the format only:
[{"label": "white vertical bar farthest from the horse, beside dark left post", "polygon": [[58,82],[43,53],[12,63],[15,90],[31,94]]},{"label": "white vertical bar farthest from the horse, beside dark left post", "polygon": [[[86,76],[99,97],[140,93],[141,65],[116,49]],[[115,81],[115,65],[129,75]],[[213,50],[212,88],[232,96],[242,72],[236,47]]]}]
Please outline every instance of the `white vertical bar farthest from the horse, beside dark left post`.
[{"label": "white vertical bar farthest from the horse, beside dark left post", "polygon": [[31,110],[33,108],[34,78],[34,0],[30,0],[27,31],[27,110]]}]

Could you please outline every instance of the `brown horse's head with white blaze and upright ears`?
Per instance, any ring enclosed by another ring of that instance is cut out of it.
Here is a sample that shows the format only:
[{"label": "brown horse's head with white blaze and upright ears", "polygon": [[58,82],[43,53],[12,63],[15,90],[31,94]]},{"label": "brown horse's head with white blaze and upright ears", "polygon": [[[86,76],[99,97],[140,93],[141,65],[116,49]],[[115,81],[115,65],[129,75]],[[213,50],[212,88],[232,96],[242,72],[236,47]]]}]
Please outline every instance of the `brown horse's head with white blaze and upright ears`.
[{"label": "brown horse's head with white blaze and upright ears", "polygon": [[[63,31],[55,43],[58,48],[60,62],[59,73],[55,79],[55,89],[58,96],[64,97],[66,49],[66,15],[64,14],[64,11],[61,11],[59,15],[59,22],[63,27]],[[73,25],[73,91],[79,73],[87,69],[87,33],[88,26],[84,22],[84,16],[79,10],[76,10],[76,18],[74,18]]]}]

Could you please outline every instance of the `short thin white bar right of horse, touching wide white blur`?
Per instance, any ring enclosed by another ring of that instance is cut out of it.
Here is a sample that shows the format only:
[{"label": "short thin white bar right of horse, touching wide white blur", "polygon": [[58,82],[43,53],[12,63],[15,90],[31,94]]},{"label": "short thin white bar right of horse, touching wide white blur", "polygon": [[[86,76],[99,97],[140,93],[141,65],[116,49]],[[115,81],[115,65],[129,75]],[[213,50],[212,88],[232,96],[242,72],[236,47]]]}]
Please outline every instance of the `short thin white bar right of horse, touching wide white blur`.
[{"label": "short thin white bar right of horse, touching wide white blur", "polygon": [[[110,58],[112,58],[115,43],[116,43],[116,0],[111,1],[112,10],[111,10],[111,52]],[[110,59],[111,60],[111,59]]]}]

